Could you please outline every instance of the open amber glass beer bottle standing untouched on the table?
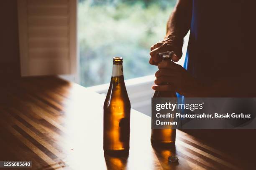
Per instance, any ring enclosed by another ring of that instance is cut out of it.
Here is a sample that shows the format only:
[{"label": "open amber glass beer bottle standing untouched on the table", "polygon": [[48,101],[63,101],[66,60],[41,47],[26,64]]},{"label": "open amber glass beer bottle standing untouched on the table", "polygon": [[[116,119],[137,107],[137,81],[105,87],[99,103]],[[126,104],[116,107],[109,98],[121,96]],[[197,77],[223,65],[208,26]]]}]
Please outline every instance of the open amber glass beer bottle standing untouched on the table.
[{"label": "open amber glass beer bottle standing untouched on the table", "polygon": [[113,58],[113,71],[104,102],[103,149],[107,153],[128,153],[131,103],[123,77],[123,59]]}]

